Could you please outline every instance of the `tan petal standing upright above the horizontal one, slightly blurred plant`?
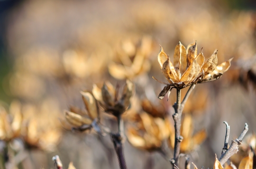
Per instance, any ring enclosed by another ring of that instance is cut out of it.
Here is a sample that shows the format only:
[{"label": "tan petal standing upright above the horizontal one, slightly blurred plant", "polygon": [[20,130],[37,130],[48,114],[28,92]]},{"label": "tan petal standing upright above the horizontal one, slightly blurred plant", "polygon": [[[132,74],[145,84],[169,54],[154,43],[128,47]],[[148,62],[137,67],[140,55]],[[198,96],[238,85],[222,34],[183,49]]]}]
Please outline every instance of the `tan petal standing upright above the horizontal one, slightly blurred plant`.
[{"label": "tan petal standing upright above the horizontal one, slightly blurred plant", "polygon": [[97,104],[92,94],[89,92],[83,92],[83,91],[81,91],[80,93],[82,94],[82,100],[86,106],[86,110],[90,118],[91,119],[97,118],[99,116]]}]

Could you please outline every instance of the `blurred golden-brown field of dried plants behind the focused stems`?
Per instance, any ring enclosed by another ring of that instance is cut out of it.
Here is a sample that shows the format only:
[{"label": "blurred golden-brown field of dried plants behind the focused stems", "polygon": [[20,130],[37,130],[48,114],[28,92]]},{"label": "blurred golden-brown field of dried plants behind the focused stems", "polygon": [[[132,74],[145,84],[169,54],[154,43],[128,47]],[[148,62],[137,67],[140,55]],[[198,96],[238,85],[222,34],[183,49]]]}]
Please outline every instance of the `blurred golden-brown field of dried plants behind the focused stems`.
[{"label": "blurred golden-brown field of dried plants behind the focused stems", "polygon": [[[254,0],[0,0],[0,167],[54,169],[51,158],[58,154],[64,168],[73,161],[77,169],[118,169],[110,136],[73,133],[61,121],[70,106],[84,109],[81,90],[129,78],[136,95],[124,115],[128,169],[171,168],[157,149],[169,145],[171,159],[171,136],[141,147],[130,134],[144,113],[173,125],[163,114],[174,113],[176,93],[158,101],[164,85],[152,76],[166,82],[157,63],[159,44],[172,58],[179,41],[197,41],[206,59],[218,49],[218,64],[234,57],[228,72],[198,84],[185,105],[184,135],[195,141],[183,153],[197,167],[210,168],[224,145],[223,121],[231,128],[229,144],[248,123],[241,153],[231,159],[238,165],[256,146],[250,142],[256,131]],[[116,121],[101,114],[115,131]],[[201,139],[193,137],[197,133]]]}]

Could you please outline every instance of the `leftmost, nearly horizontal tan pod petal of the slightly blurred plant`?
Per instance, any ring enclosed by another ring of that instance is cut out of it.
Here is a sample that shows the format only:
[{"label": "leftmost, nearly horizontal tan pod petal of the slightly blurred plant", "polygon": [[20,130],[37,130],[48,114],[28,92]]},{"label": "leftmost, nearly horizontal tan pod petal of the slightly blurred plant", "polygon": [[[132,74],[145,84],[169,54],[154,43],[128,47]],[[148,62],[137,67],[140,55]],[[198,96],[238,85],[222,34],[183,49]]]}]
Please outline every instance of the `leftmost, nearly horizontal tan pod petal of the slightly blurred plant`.
[{"label": "leftmost, nearly horizontal tan pod petal of the slightly blurred plant", "polygon": [[75,114],[71,111],[64,111],[65,118],[67,121],[74,126],[82,126],[84,124],[91,124],[90,118],[82,117],[79,114]]}]

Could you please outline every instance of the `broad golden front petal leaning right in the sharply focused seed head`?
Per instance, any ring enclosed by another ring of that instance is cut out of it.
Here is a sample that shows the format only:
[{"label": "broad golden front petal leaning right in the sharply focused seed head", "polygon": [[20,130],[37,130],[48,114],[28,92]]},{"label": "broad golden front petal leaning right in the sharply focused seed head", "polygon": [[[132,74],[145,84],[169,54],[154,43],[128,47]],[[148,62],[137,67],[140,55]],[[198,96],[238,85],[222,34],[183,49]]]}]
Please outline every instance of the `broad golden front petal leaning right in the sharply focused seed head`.
[{"label": "broad golden front petal leaning right in the sharply focused seed head", "polygon": [[194,60],[192,64],[188,67],[188,69],[184,72],[181,77],[181,81],[185,84],[189,84],[190,81],[193,80],[193,77],[198,76],[200,72],[200,65]]}]

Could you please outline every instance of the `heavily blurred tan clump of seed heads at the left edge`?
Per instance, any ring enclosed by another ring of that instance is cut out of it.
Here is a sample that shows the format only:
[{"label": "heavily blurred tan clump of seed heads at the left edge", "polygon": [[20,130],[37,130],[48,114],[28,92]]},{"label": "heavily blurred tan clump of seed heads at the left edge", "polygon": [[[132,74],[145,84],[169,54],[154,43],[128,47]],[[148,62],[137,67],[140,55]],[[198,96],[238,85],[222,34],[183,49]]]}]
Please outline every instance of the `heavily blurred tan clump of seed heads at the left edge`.
[{"label": "heavily blurred tan clump of seed heads at the left edge", "polygon": [[[55,151],[62,136],[62,129],[59,123],[56,123],[59,110],[56,104],[52,103],[52,99],[43,101],[39,106],[12,101],[9,111],[5,106],[0,106],[0,140],[5,146],[5,167],[15,167],[27,159],[29,149]],[[22,144],[17,144],[19,141]],[[18,152],[23,153],[24,157],[15,161],[13,159]]]}]

